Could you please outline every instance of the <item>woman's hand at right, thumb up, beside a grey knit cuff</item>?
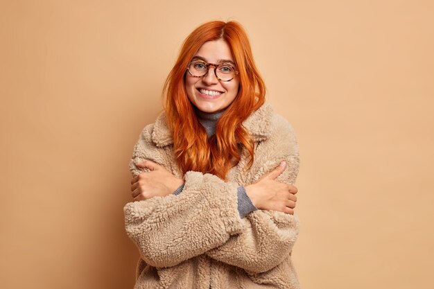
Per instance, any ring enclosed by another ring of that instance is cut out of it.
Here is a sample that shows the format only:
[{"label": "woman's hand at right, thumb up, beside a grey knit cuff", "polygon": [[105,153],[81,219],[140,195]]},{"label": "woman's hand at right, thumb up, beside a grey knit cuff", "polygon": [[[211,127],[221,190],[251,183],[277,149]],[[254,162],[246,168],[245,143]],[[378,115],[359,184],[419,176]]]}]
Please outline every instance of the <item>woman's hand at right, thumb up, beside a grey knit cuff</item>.
[{"label": "woman's hand at right, thumb up, beside a grey knit cuff", "polygon": [[297,188],[292,184],[284,184],[275,180],[284,172],[285,168],[286,162],[282,161],[271,173],[264,175],[257,182],[245,186],[245,193],[255,207],[268,211],[294,213]]}]

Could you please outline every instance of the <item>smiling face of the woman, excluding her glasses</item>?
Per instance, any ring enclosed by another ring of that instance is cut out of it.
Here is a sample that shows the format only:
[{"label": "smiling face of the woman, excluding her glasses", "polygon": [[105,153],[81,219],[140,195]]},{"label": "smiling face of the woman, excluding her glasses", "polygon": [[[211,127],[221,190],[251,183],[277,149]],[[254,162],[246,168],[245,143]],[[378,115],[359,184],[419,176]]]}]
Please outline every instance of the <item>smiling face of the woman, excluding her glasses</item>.
[{"label": "smiling face of the woman, excluding her glasses", "polygon": [[[220,64],[230,60],[234,62],[229,45],[224,40],[205,42],[200,46],[195,57],[207,63]],[[185,89],[189,100],[202,112],[218,112],[228,107],[238,94],[239,76],[230,81],[216,78],[214,66],[209,67],[205,76],[196,78],[186,72]]]}]

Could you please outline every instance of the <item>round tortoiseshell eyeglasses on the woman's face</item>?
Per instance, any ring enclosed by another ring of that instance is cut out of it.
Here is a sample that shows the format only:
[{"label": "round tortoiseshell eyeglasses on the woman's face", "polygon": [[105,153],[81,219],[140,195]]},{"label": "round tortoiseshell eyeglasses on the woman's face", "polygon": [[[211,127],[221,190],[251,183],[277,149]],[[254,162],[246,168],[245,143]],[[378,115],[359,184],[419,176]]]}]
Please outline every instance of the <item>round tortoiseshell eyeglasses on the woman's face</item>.
[{"label": "round tortoiseshell eyeglasses on the woman's face", "polygon": [[197,59],[190,62],[187,71],[189,71],[190,75],[193,77],[202,77],[208,73],[209,67],[214,67],[216,78],[221,81],[231,81],[238,74],[238,71],[232,66],[232,64],[213,64]]}]

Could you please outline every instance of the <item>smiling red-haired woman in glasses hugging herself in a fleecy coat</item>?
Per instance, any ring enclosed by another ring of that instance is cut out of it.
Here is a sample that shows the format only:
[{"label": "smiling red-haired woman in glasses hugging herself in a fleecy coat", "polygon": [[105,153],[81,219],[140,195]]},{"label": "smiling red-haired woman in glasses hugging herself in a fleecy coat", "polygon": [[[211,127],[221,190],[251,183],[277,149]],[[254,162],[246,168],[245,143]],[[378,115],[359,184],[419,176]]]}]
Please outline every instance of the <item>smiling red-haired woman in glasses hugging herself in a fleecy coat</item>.
[{"label": "smiling red-haired woman in glasses hugging herself in a fleecy coat", "polygon": [[299,157],[240,24],[211,21],[186,38],[166,105],[134,147],[125,227],[135,288],[300,288]]}]

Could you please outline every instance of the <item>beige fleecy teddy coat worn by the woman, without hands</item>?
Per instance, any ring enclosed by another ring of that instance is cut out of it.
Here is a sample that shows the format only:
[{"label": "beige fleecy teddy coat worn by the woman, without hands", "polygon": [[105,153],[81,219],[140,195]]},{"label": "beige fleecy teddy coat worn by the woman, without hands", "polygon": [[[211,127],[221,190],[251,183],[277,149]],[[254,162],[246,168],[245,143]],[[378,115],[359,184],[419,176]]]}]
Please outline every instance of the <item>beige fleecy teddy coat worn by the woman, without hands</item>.
[{"label": "beige fleecy teddy coat worn by the woman, without hands", "polygon": [[239,185],[252,184],[283,160],[287,168],[277,180],[295,182],[295,134],[267,104],[243,125],[254,139],[254,162],[245,170],[244,152],[228,182],[193,171],[181,175],[164,114],[144,128],[130,161],[132,174],[143,173],[134,164],[149,159],[184,177],[185,186],[180,195],[125,205],[125,228],[141,256],[134,288],[300,288],[290,256],[297,216],[257,210],[241,219],[236,199]]}]

